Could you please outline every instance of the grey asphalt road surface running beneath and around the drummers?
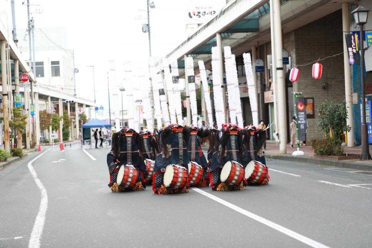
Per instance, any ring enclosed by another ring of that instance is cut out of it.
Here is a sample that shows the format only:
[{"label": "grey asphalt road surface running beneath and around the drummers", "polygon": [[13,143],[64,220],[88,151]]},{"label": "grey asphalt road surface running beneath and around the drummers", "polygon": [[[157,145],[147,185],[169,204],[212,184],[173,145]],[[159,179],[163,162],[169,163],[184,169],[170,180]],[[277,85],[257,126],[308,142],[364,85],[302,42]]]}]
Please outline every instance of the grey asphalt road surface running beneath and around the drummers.
[{"label": "grey asphalt road surface running beneath and around the drummers", "polygon": [[42,152],[0,171],[0,247],[38,247],[35,232],[41,247],[372,246],[372,175],[267,160],[270,184],[244,191],[112,193],[108,149],[78,148],[31,164],[45,216],[28,168]]}]

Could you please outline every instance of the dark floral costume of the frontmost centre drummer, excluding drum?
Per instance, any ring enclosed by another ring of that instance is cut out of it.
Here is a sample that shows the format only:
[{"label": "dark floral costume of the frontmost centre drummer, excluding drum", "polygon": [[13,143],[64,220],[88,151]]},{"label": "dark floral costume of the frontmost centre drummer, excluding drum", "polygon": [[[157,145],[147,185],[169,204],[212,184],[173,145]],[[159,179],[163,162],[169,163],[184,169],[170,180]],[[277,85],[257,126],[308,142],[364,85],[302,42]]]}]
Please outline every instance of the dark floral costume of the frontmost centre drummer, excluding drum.
[{"label": "dark floral costume of the frontmost centre drummer, excluding drum", "polygon": [[[187,156],[186,142],[183,138],[183,127],[180,125],[169,125],[159,131],[158,142],[159,153],[155,158],[155,174],[153,179],[153,191],[155,194],[187,193],[188,183],[182,189],[170,189],[164,185],[163,177],[168,165],[175,164],[188,170],[189,157]],[[166,147],[166,150],[163,147]]]}]

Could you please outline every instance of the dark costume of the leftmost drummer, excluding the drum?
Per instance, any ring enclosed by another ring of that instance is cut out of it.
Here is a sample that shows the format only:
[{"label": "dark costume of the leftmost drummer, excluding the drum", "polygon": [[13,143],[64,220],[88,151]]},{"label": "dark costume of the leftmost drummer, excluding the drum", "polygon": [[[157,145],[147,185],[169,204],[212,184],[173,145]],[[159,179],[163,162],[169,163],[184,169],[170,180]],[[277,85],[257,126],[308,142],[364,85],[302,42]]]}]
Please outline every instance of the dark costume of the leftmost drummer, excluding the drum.
[{"label": "dark costume of the leftmost drummer, excluding the drum", "polygon": [[[109,187],[112,192],[145,190],[146,166],[138,150],[136,138],[138,134],[129,128],[123,128],[112,136],[112,149],[107,155],[107,165],[110,173]],[[134,187],[117,185],[116,179],[122,165],[133,165],[138,170]]]}]

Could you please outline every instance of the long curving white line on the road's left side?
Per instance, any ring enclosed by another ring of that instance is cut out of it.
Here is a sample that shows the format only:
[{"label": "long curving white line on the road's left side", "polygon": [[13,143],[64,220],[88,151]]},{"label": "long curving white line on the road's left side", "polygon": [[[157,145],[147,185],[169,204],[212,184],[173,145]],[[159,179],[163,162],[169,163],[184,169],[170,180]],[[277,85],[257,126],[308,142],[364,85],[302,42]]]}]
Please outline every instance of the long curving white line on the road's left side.
[{"label": "long curving white line on the road's left side", "polygon": [[43,233],[44,224],[45,224],[45,217],[48,209],[48,194],[47,190],[45,189],[44,185],[38,178],[38,174],[36,174],[36,171],[33,169],[32,162],[34,162],[36,159],[40,158],[44,153],[48,152],[50,149],[46,150],[45,152],[41,153],[36,158],[32,159],[28,164],[28,169],[31,172],[31,175],[33,177],[33,180],[36,182],[36,185],[38,185],[38,188],[41,192],[41,201],[40,201],[40,207],[38,215],[36,216],[35,223],[33,224],[32,232],[30,235],[30,241],[28,243],[29,248],[39,248],[40,247],[40,238]]}]

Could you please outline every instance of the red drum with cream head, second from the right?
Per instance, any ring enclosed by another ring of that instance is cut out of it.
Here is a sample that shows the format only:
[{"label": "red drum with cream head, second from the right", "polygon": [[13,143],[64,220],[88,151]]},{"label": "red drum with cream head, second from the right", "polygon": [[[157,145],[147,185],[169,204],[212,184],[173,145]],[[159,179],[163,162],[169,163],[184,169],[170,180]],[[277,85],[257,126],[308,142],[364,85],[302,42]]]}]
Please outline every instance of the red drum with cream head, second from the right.
[{"label": "red drum with cream head, second from the right", "polygon": [[225,182],[229,185],[239,185],[243,177],[243,166],[235,161],[227,161],[221,170],[221,182]]}]

